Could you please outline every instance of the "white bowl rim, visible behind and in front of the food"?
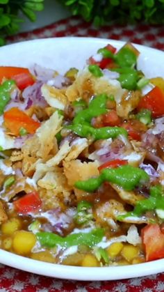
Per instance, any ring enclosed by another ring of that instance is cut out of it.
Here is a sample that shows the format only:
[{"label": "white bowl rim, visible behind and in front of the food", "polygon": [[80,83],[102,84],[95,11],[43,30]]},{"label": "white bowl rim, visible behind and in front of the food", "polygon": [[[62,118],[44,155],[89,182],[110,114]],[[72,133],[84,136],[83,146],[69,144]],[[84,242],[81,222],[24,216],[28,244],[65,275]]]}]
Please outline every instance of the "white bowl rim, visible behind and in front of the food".
[{"label": "white bowl rim, visible behind and in front of the food", "polygon": [[[64,73],[71,67],[83,68],[85,60],[107,43],[120,48],[124,42],[99,38],[47,38],[1,47],[0,66],[28,67],[38,63]],[[164,52],[136,45],[141,52],[138,68],[147,77],[164,77]],[[77,280],[126,279],[164,271],[164,259],[133,266],[82,268],[27,259],[0,249],[0,263],[39,275]]]}]

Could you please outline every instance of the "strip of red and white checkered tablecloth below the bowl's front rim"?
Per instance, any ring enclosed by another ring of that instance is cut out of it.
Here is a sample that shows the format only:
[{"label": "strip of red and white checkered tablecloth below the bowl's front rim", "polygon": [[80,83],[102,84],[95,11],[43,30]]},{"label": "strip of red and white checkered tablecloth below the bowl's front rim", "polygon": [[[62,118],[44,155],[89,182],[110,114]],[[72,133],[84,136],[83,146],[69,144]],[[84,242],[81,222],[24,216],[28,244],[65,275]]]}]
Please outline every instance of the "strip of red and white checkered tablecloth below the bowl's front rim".
[{"label": "strip of red and white checkered tablecloth below the bowl's front rim", "polygon": [[[126,267],[125,267],[126,268]],[[163,292],[164,274],[122,281],[77,282],[54,279],[0,265],[1,292]]]}]

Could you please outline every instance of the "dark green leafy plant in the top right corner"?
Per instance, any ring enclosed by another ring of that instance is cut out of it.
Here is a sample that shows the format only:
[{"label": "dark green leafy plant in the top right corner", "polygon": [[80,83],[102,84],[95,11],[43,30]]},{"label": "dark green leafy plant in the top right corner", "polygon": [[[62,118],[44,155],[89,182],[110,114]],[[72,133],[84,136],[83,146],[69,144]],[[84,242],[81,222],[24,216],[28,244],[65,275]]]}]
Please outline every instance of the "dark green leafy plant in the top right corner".
[{"label": "dark green leafy plant in the top right corner", "polygon": [[61,0],[73,15],[81,15],[96,26],[116,21],[134,23],[144,20],[164,24],[164,0]]}]

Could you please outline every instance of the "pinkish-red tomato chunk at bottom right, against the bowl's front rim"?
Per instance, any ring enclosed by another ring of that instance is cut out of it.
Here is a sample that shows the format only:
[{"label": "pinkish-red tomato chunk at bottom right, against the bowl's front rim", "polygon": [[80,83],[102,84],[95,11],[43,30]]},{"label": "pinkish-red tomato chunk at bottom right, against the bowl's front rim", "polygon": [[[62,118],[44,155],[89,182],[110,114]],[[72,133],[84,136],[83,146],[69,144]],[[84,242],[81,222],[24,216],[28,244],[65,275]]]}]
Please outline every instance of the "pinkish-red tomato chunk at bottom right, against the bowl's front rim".
[{"label": "pinkish-red tomato chunk at bottom right, against the bowl's front rim", "polygon": [[164,258],[164,234],[158,224],[149,224],[141,230],[146,261]]}]

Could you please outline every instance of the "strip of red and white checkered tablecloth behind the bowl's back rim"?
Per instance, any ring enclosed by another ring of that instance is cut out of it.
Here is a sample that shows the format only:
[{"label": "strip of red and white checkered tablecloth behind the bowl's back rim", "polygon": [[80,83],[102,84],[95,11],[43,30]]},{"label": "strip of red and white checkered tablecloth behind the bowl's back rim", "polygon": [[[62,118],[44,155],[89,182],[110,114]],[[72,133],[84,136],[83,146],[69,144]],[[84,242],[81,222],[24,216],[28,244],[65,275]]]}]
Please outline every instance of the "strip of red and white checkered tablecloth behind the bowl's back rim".
[{"label": "strip of red and white checkered tablecloth behind the bowl's back rim", "polygon": [[28,33],[19,33],[17,36],[8,38],[8,43],[35,38],[51,38],[62,36],[92,36],[95,38],[111,38],[125,40],[147,45],[164,51],[164,28],[163,26],[149,26],[147,24],[136,25],[110,25],[96,29],[92,24],[83,22],[79,17],[70,17],[60,20],[42,29]]}]

